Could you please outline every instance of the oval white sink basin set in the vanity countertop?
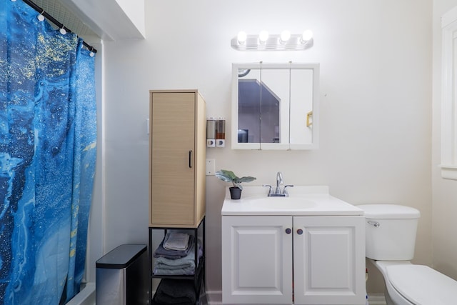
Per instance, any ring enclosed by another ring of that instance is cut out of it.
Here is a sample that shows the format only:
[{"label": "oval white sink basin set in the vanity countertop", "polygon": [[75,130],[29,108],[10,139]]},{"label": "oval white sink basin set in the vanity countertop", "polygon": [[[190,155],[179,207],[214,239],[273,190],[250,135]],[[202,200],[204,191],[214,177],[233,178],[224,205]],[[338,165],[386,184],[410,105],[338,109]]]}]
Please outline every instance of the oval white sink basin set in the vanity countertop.
[{"label": "oval white sink basin set in the vanity countertop", "polygon": [[275,210],[302,210],[317,206],[316,201],[300,197],[253,197],[246,198],[243,204]]}]

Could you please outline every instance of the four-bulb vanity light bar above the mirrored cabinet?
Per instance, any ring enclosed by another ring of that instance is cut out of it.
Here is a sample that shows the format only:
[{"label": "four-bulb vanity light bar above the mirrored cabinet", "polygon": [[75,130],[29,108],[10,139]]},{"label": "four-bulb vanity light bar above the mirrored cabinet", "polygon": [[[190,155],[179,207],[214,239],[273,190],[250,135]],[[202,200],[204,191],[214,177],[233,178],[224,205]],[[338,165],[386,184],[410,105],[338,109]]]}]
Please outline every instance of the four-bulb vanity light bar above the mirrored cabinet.
[{"label": "four-bulb vanity light bar above the mirrored cabinet", "polygon": [[261,31],[258,35],[246,34],[240,31],[231,39],[231,47],[238,51],[301,51],[313,46],[313,32],[303,31],[302,34],[291,34],[282,31],[281,34],[268,34]]}]

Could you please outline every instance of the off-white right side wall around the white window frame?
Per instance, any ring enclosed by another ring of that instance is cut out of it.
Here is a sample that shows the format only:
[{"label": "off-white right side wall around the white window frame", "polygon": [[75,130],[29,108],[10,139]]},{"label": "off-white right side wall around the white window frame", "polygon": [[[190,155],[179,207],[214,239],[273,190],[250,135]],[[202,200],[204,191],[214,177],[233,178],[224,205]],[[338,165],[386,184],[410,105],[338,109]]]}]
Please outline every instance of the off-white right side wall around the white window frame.
[{"label": "off-white right side wall around the white window frame", "polygon": [[441,178],[441,16],[456,0],[433,2],[433,268],[457,279],[457,181]]}]

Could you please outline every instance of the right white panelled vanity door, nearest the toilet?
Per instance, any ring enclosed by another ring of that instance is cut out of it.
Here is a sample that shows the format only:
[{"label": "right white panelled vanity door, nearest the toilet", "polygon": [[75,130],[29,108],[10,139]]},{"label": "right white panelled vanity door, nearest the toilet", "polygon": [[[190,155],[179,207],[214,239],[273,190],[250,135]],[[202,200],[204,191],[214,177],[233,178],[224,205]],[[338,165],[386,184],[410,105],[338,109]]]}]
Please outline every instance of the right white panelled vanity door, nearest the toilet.
[{"label": "right white panelled vanity door, nearest the toilet", "polygon": [[294,304],[365,304],[364,232],[363,216],[293,218]]}]

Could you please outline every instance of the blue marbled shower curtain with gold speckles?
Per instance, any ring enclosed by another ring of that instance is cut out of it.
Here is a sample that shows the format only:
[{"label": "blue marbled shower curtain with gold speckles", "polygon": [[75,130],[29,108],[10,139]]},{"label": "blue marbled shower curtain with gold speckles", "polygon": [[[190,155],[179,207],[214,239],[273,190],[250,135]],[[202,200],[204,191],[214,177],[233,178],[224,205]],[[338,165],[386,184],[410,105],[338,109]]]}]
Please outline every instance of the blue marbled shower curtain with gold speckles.
[{"label": "blue marbled shower curtain with gold speckles", "polygon": [[0,2],[0,304],[64,304],[85,266],[94,57],[23,1]]}]

